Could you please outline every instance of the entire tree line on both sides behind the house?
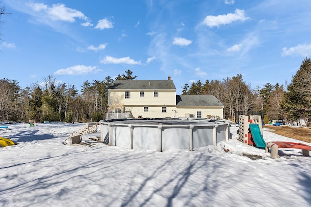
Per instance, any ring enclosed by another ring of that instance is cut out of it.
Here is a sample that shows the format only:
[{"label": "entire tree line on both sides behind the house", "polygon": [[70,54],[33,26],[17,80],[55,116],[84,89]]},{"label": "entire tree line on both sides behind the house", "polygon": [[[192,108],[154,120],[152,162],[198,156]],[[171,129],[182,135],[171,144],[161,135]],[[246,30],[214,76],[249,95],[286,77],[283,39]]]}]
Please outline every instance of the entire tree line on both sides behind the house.
[{"label": "entire tree line on both sides behind the house", "polygon": [[[115,80],[135,80],[131,70]],[[81,93],[74,85],[57,84],[55,77],[43,78],[43,85],[32,83],[21,89],[16,80],[0,80],[0,120],[12,122],[89,122],[106,118],[108,88],[113,79],[85,81]],[[265,123],[282,119],[290,124],[304,120],[311,126],[311,59],[305,58],[288,84],[266,83],[252,89],[241,74],[223,80],[186,83],[182,94],[211,94],[224,104],[225,119],[239,115],[261,115]]]}]

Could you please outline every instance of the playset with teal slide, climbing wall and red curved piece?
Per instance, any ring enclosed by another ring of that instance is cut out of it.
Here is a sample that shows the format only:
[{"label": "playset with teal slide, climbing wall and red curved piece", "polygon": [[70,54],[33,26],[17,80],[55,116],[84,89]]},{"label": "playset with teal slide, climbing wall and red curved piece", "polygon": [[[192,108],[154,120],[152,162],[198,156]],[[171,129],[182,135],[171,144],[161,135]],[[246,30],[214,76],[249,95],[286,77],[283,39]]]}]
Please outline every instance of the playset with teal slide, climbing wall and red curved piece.
[{"label": "playset with teal slide, climbing wall and red curved piece", "polygon": [[311,146],[303,143],[272,141],[266,143],[262,136],[262,120],[261,116],[239,116],[239,140],[245,144],[265,149],[269,152],[271,149],[271,158],[277,158],[279,148],[301,149],[302,155],[309,156]]}]

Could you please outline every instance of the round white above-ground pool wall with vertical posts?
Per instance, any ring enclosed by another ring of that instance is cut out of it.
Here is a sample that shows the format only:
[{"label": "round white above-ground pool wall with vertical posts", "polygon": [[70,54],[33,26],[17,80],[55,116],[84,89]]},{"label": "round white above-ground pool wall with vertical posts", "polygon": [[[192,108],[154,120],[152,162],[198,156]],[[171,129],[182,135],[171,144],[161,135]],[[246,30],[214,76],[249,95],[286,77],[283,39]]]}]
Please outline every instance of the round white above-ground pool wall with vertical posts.
[{"label": "round white above-ground pool wall with vertical posts", "polygon": [[100,128],[101,142],[109,138],[109,145],[138,150],[194,150],[230,137],[230,125],[224,121],[100,121]]}]

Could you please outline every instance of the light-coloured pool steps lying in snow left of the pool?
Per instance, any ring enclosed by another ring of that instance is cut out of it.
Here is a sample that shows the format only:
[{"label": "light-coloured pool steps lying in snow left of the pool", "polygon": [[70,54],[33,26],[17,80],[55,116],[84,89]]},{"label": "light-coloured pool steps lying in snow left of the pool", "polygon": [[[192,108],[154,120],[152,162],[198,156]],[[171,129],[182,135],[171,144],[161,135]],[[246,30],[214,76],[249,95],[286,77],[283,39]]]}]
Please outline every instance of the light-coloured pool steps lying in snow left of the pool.
[{"label": "light-coloured pool steps lying in snow left of the pool", "polygon": [[87,143],[82,141],[82,135],[90,134],[96,131],[97,131],[97,123],[88,122],[78,131],[70,134],[68,138],[64,141],[64,143],[66,145],[93,147],[95,145],[94,143]]}]

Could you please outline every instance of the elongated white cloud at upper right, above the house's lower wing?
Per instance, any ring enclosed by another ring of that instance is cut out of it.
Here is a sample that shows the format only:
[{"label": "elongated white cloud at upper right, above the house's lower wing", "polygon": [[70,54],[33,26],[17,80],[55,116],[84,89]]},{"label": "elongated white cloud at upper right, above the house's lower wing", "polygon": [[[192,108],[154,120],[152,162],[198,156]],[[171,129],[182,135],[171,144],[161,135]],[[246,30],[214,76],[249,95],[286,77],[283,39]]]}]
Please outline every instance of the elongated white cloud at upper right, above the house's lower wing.
[{"label": "elongated white cloud at upper right, above the house's lower wing", "polygon": [[218,27],[219,25],[230,24],[234,21],[245,21],[249,17],[245,16],[245,11],[241,9],[236,9],[234,13],[228,13],[226,15],[211,16],[208,15],[205,17],[202,24],[209,27]]}]

